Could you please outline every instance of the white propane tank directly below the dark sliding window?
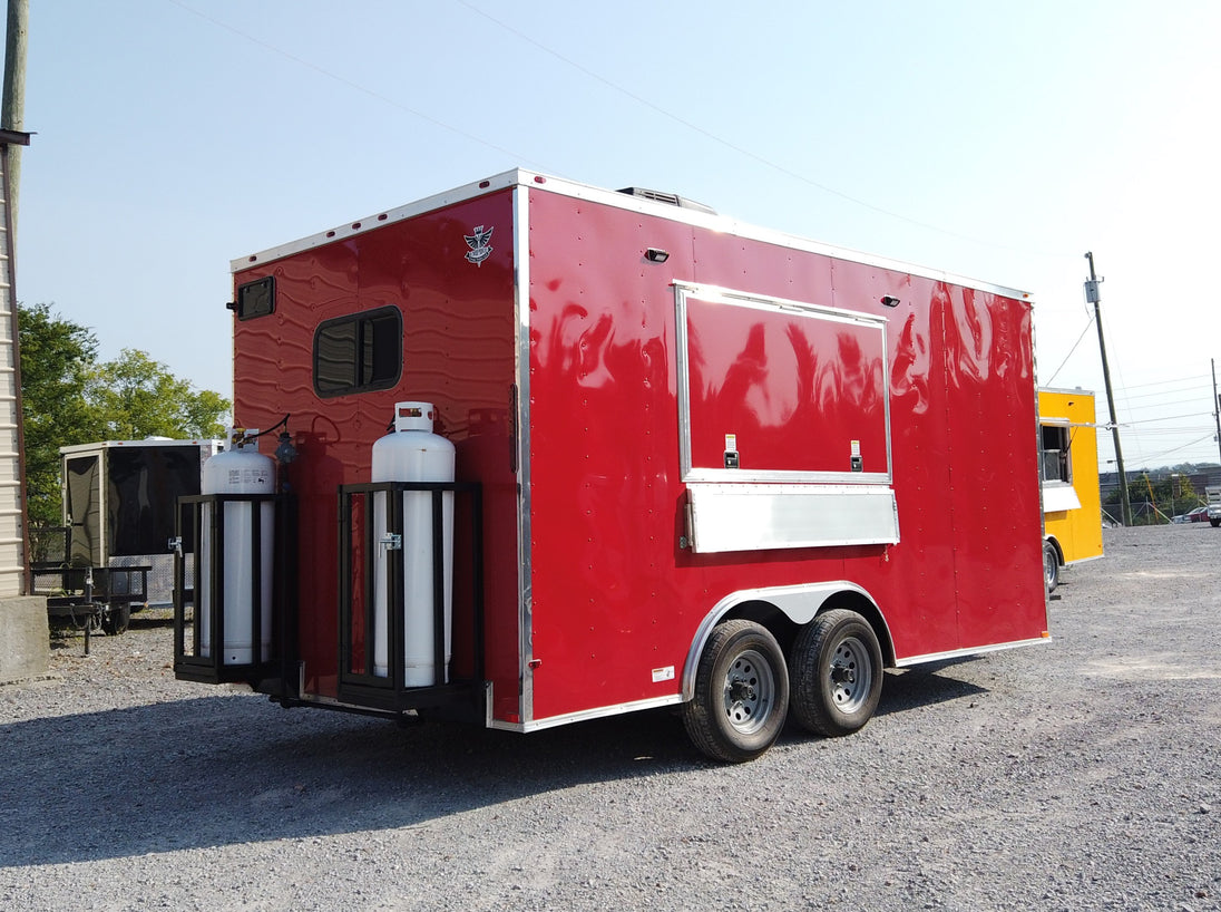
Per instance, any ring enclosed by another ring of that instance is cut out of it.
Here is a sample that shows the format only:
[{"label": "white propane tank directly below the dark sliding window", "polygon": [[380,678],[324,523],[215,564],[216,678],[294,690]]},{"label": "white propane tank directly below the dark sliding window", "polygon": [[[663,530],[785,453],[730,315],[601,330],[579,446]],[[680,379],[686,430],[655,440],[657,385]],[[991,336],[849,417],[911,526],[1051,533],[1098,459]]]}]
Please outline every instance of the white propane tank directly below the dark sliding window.
[{"label": "white propane tank directly below the dark sliding window", "polygon": [[[431,402],[394,406],[394,430],[372,449],[372,480],[453,482],[454,445],[432,433],[436,410]],[[453,621],[454,495],[442,494],[442,566],[444,567],[444,644],[442,675],[433,667],[435,605],[432,592],[432,493],[403,491],[400,550],[387,546],[386,494],[374,495],[374,534],[377,548],[374,575],[374,674],[389,672],[386,571],[391,560],[403,561],[403,628],[408,687],[427,687],[449,680]],[[397,610],[397,609],[396,609]]]}]

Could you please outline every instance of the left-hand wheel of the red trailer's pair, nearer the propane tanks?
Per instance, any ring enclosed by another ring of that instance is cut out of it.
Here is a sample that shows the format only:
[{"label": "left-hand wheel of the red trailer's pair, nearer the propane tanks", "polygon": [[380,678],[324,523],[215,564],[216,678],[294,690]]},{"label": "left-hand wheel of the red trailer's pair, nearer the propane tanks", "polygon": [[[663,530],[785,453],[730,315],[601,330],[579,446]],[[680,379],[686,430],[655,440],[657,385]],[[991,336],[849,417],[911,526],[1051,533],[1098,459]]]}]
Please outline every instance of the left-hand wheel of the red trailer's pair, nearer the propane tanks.
[{"label": "left-hand wheel of the red trailer's pair, nearer the propane tanks", "polygon": [[717,626],[703,648],[683,723],[712,759],[744,763],[772,747],[788,705],[789,671],[775,637],[752,621],[733,620]]}]

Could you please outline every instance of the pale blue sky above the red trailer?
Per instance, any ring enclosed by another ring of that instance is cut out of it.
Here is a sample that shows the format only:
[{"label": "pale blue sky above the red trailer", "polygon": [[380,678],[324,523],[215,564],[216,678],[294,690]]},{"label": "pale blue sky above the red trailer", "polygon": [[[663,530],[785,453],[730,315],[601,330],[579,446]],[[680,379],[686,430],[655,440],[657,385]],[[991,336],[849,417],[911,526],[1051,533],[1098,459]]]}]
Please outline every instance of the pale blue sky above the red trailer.
[{"label": "pale blue sky above the red trailer", "polygon": [[230,395],[231,259],[523,166],[1031,291],[1105,419],[1093,251],[1128,468],[1219,458],[1215,1],[31,6],[18,297],[104,357]]}]

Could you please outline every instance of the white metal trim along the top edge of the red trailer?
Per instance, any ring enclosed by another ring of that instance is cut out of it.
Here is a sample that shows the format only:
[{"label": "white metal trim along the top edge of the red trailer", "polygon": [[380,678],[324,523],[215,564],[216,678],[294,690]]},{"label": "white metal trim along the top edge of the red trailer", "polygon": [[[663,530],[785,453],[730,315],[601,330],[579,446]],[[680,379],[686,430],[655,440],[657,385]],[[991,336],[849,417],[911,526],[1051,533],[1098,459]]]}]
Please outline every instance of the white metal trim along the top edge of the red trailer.
[{"label": "white metal trim along the top edge of the red trailer", "polygon": [[626,193],[619,193],[618,191],[614,189],[593,187],[586,183],[579,183],[576,181],[570,181],[563,177],[551,177],[548,175],[543,175],[537,171],[526,171],[524,169],[512,169],[509,171],[503,171],[493,177],[486,177],[484,180],[474,181],[471,183],[466,183],[460,187],[454,187],[453,189],[446,191],[443,193],[436,193],[430,197],[425,197],[424,199],[416,200],[414,203],[407,203],[394,209],[387,209],[381,213],[375,213],[374,215],[366,216],[364,219],[357,219],[352,222],[337,226],[328,231],[320,231],[315,235],[303,237],[298,241],[291,241],[289,243],[280,245],[278,247],[271,247],[260,253],[250,254],[249,257],[242,257],[239,259],[234,259],[230,263],[230,270],[232,273],[238,273],[243,269],[250,269],[252,267],[281,259],[283,257],[288,257],[294,253],[300,253],[302,251],[308,251],[314,247],[320,247],[322,245],[331,243],[332,241],[337,241],[343,237],[350,237],[353,235],[358,235],[364,231],[370,231],[381,225],[387,225],[394,221],[400,221],[403,219],[409,219],[415,215],[421,215],[424,213],[432,211],[433,209],[440,209],[442,207],[451,205],[453,203],[460,203],[466,199],[474,199],[475,197],[482,196],[485,193],[514,186],[529,186],[538,189],[545,189],[552,193],[562,193],[564,196],[574,197],[578,199],[590,199],[607,205],[614,205],[620,209],[629,209],[632,211],[645,213],[650,215],[663,215],[664,218],[668,218],[673,221],[687,222],[690,225],[712,229],[722,234],[735,235],[737,237],[747,237],[751,240],[763,241],[767,243],[775,243],[794,249],[807,251],[810,253],[819,253],[827,257],[834,257],[836,259],[851,260],[853,263],[861,263],[863,265],[871,265],[878,269],[888,269],[896,273],[906,273],[924,279],[933,279],[934,281],[945,281],[951,285],[960,285],[962,287],[974,289],[977,291],[985,291],[995,295],[1001,295],[1004,297],[1011,297],[1011,298],[1017,298],[1020,301],[1033,302],[1033,296],[1031,295],[1031,292],[1022,291],[1020,289],[1012,289],[994,282],[985,282],[977,279],[971,279],[968,276],[947,273],[941,269],[932,269],[929,267],[922,267],[915,263],[905,263],[902,260],[890,259],[888,257],[879,257],[869,253],[863,253],[861,251],[855,251],[847,247],[835,247],[834,245],[824,243],[822,241],[814,241],[807,237],[800,237],[797,235],[790,235],[783,231],[751,225],[748,222],[739,221],[737,219],[734,219],[728,215],[705,213],[698,209],[684,209],[681,207],[674,207],[668,203],[659,203],[642,197],[632,197]]}]

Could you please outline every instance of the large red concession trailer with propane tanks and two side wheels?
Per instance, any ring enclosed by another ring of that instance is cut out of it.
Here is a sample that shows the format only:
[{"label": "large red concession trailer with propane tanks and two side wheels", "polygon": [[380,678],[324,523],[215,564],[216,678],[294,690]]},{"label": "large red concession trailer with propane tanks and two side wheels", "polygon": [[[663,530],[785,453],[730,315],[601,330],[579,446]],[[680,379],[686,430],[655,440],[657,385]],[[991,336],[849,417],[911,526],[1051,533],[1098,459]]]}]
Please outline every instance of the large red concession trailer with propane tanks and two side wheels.
[{"label": "large red concession trailer with propane tanks and two side wheels", "polygon": [[[739,762],[1048,637],[1023,292],[520,170],[233,281],[275,490],[183,500],[181,677],[514,731],[678,704]],[[438,441],[452,477],[408,465]]]}]

